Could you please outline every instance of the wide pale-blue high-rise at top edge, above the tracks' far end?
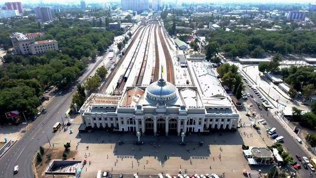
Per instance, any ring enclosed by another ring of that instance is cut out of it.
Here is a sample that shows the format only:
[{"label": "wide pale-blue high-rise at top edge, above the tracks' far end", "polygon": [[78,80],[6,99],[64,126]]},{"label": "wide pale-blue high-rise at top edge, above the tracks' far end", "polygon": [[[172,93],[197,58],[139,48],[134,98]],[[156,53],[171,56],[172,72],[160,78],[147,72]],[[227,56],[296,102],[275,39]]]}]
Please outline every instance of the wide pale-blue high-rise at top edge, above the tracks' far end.
[{"label": "wide pale-blue high-rise at top edge, above the tracks' far end", "polygon": [[121,0],[122,10],[142,12],[149,9],[148,0]]}]

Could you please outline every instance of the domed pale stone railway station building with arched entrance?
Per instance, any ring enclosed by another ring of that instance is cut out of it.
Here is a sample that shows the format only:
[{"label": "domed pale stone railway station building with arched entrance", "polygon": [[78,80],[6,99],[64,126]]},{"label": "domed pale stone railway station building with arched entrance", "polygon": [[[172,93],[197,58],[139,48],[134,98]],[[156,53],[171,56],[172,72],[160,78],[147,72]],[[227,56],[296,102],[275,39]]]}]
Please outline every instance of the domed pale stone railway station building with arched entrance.
[{"label": "domed pale stone railway station building with arched entrance", "polygon": [[79,112],[85,127],[118,132],[180,135],[237,129],[237,109],[227,94],[215,90],[205,96],[196,87],[159,79],[149,86],[128,87],[122,95],[93,93]]}]

